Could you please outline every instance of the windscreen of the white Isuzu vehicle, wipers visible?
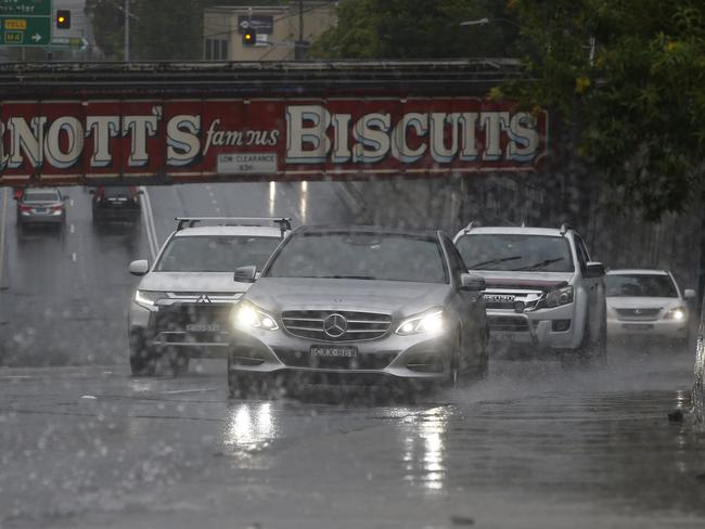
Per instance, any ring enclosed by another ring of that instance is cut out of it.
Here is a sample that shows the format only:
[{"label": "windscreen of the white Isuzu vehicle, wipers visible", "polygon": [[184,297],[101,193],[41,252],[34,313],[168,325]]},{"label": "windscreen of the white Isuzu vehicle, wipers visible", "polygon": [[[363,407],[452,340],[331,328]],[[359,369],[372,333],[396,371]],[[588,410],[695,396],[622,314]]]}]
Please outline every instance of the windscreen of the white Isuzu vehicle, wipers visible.
[{"label": "windscreen of the white Isuzu vehicle, wipers visible", "polygon": [[573,272],[565,237],[508,233],[462,236],[456,244],[470,270]]}]

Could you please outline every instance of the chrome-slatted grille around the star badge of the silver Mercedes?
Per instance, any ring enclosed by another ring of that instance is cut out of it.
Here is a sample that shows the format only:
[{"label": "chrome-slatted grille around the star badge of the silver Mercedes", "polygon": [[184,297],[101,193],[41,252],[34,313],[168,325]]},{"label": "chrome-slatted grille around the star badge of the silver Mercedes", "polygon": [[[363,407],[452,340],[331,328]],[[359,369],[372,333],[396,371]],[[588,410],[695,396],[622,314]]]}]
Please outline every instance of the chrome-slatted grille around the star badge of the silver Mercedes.
[{"label": "chrome-slatted grille around the star badge of the silver Mercedes", "polygon": [[[328,334],[324,322],[338,314],[345,319],[345,332],[339,336]],[[293,336],[325,341],[360,341],[384,336],[392,325],[389,314],[334,310],[290,310],[282,313],[282,323]]]}]

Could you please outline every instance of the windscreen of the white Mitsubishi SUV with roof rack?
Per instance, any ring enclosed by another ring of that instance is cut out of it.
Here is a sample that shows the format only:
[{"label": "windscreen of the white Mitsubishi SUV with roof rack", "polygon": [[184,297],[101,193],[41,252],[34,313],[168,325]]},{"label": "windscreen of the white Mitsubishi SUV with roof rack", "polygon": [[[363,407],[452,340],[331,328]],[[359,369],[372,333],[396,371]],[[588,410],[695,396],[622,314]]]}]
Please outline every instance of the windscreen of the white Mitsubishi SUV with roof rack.
[{"label": "windscreen of the white Mitsubishi SUV with roof rack", "polygon": [[156,263],[157,272],[234,272],[239,267],[260,270],[279,237],[235,235],[176,236]]}]

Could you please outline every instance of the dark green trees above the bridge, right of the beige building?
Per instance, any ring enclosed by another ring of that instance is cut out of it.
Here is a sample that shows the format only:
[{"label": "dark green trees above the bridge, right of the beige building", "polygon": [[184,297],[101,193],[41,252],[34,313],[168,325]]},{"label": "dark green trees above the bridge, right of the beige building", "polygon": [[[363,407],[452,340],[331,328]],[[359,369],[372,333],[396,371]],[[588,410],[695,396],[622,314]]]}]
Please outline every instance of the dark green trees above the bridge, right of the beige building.
[{"label": "dark green trees above the bridge, right of the beige building", "polygon": [[463,21],[507,17],[492,0],[342,0],[338,24],[310,50],[318,59],[508,56],[516,28],[507,22],[461,27]]}]

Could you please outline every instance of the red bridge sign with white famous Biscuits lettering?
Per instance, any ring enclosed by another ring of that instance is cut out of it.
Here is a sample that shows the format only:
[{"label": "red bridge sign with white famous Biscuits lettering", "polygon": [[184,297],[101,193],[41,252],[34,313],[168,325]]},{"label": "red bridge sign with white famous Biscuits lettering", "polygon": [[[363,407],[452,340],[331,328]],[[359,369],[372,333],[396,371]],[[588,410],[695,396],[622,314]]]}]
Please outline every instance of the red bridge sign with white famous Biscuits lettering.
[{"label": "red bridge sign with white famous Biscuits lettering", "polygon": [[533,171],[547,143],[474,98],[3,102],[0,185]]}]

